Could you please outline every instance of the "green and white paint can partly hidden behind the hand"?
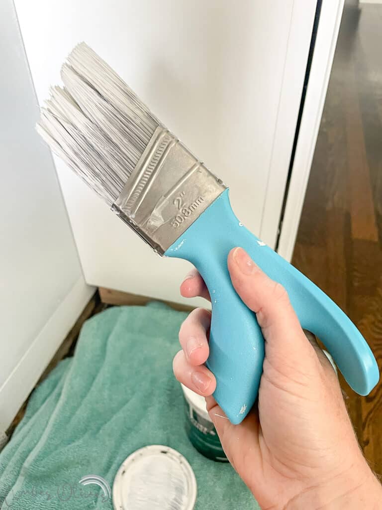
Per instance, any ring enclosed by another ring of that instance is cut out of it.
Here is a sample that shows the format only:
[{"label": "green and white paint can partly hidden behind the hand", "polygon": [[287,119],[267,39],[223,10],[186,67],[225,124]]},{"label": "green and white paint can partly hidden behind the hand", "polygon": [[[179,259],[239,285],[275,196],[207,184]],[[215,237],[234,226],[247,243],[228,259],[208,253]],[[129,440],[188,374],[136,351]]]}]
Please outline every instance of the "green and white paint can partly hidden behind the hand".
[{"label": "green and white paint can partly hidden behind the hand", "polygon": [[208,415],[204,397],[181,385],[185,407],[185,429],[193,446],[205,457],[228,462],[219,436]]}]

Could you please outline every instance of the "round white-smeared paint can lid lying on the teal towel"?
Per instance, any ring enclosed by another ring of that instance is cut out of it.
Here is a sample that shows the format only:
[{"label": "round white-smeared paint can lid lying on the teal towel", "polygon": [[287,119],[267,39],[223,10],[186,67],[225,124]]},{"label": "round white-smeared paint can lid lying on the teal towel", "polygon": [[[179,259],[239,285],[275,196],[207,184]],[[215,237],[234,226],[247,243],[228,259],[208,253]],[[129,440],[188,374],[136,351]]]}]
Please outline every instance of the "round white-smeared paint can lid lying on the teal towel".
[{"label": "round white-smeared paint can lid lying on the teal towel", "polygon": [[113,483],[115,510],[193,510],[197,484],[185,457],[151,445],[129,455]]}]

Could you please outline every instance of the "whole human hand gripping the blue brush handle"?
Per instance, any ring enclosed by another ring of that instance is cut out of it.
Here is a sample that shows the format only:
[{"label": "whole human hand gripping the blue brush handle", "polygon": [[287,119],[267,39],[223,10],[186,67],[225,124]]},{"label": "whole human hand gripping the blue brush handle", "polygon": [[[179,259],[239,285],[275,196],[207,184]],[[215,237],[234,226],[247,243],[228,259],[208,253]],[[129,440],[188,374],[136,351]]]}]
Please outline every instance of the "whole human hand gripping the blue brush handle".
[{"label": "whole human hand gripping the blue brush handle", "polygon": [[[206,397],[232,466],[263,509],[382,508],[381,486],[359,448],[337,375],[315,338],[304,334],[286,291],[242,248],[231,250],[228,269],[265,339],[258,405],[233,425],[211,396],[216,381],[203,365],[211,318],[206,310],[194,310],[183,322],[173,369],[182,384]],[[181,294],[209,299],[196,271]]]}]

